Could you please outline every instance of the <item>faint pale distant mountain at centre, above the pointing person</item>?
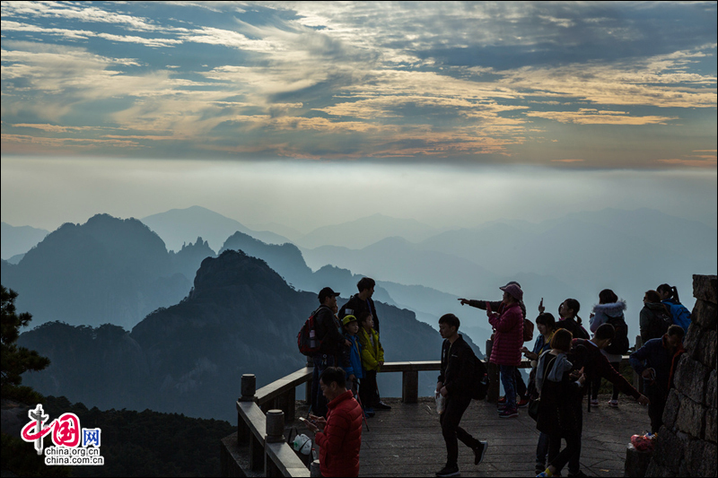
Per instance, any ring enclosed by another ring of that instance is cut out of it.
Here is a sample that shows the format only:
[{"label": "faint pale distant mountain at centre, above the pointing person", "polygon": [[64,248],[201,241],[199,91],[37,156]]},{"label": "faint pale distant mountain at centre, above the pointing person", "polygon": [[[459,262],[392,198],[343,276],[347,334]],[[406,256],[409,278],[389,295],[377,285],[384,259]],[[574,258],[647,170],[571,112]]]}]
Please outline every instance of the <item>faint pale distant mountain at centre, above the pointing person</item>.
[{"label": "faint pale distant mountain at centre, above the pointing person", "polygon": [[438,232],[440,230],[414,219],[397,219],[383,214],[373,214],[356,221],[320,227],[297,238],[295,243],[302,248],[339,246],[360,249],[392,236],[420,241]]}]

